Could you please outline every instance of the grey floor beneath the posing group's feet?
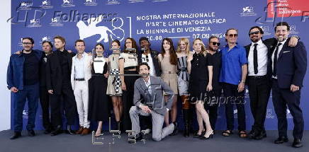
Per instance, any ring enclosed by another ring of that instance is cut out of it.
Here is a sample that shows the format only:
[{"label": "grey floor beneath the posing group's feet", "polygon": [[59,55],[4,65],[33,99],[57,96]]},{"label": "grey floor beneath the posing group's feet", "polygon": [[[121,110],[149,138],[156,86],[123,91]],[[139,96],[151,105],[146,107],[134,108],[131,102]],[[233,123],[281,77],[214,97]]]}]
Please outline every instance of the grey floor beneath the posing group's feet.
[{"label": "grey floor beneath the posing group's feet", "polygon": [[288,132],[290,141],[288,143],[277,145],[273,144],[276,139],[277,131],[267,131],[267,138],[262,141],[254,141],[249,139],[240,139],[237,134],[232,134],[230,137],[224,137],[215,134],[213,139],[200,140],[193,139],[192,137],[184,138],[180,133],[176,136],[167,136],[163,141],[152,141],[151,136],[146,137],[145,143],[137,142],[136,144],[128,144],[128,135],[121,134],[120,139],[113,137],[108,132],[101,136],[101,139],[94,139],[92,136],[79,136],[79,135],[67,135],[60,134],[58,136],[50,136],[43,134],[43,131],[36,131],[37,135],[29,137],[26,135],[26,131],[23,132],[23,136],[16,140],[10,140],[9,137],[13,131],[6,130],[0,131],[0,151],[1,152],[89,152],[89,151],[145,151],[145,152],[163,152],[163,151],[237,151],[237,152],[293,152],[293,151],[309,151],[309,131],[304,132],[303,148],[292,148],[293,141],[291,131]]}]

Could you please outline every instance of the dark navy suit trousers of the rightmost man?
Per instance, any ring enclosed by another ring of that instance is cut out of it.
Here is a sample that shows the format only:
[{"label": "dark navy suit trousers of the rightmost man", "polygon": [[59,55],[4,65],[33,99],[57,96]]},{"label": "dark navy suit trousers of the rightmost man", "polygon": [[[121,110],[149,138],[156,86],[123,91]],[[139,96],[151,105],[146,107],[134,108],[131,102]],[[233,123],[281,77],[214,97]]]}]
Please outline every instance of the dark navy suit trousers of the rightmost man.
[{"label": "dark navy suit trousers of the rightmost man", "polygon": [[300,89],[291,92],[290,88],[279,88],[278,81],[272,80],[272,95],[274,109],[278,119],[279,136],[287,136],[288,122],[286,120],[286,105],[293,116],[294,129],[293,136],[295,139],[303,138],[303,112],[300,109]]}]

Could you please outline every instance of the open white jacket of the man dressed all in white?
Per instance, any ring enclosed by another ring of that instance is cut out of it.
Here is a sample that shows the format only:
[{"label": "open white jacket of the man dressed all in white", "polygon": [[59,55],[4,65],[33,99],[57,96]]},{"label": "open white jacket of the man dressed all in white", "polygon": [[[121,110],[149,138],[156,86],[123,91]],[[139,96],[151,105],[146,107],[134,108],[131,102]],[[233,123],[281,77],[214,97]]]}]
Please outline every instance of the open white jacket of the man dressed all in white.
[{"label": "open white jacket of the man dressed all in white", "polygon": [[[85,74],[85,81],[86,85],[88,86],[88,81],[91,78],[91,61],[92,61],[92,56],[89,56],[84,52],[84,74]],[[77,54],[73,57],[72,59],[72,69],[71,69],[71,84],[72,88],[74,90],[74,76],[75,76],[75,59],[77,59]]]}]

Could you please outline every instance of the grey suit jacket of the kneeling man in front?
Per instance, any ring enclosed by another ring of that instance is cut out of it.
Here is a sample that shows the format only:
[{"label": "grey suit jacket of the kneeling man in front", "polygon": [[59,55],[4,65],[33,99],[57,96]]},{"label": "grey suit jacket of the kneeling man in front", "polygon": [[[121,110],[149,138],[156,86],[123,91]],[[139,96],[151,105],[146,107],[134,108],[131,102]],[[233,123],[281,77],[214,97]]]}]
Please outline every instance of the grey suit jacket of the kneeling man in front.
[{"label": "grey suit jacket of the kneeling man in front", "polygon": [[[161,78],[150,76],[150,87],[152,94],[150,95],[145,81],[143,78],[138,78],[134,84],[134,100],[133,103],[137,107],[140,105],[147,105],[151,110],[165,115],[167,113],[167,108],[172,108],[174,92],[167,83],[165,83]],[[168,97],[168,101],[164,102],[164,93]],[[144,100],[144,104],[142,104]]]}]

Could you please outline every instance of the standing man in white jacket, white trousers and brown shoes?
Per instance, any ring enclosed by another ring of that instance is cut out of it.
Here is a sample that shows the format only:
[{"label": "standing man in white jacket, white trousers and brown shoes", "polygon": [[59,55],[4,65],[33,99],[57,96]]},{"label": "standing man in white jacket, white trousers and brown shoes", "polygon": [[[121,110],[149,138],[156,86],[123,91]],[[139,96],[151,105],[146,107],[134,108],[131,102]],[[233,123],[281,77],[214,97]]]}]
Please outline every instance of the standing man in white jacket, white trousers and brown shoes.
[{"label": "standing man in white jacket, white trousers and brown shoes", "polygon": [[91,132],[88,119],[88,81],[91,78],[91,56],[85,52],[84,40],[77,40],[75,49],[77,49],[77,55],[72,59],[71,83],[79,114],[79,130],[76,134],[86,135]]}]

